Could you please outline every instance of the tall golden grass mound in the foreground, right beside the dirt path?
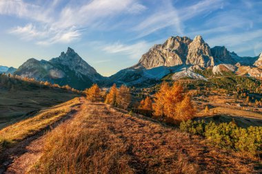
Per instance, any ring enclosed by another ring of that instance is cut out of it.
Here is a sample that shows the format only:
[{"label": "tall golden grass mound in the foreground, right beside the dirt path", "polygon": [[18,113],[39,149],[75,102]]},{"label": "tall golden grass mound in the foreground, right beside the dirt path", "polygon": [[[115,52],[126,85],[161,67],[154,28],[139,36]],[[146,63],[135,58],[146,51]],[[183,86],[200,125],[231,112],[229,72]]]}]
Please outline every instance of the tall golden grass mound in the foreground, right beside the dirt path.
[{"label": "tall golden grass mound in the foreground, right beside the dirt path", "polygon": [[43,156],[28,173],[134,173],[127,146],[97,118],[97,111],[91,113],[50,132]]}]

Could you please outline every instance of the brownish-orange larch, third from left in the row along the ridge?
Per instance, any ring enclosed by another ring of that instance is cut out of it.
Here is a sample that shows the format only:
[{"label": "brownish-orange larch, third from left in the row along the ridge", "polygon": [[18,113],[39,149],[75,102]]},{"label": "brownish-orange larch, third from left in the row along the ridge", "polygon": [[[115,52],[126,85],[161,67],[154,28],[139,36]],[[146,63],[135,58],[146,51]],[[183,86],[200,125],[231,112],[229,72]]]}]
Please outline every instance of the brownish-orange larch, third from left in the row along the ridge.
[{"label": "brownish-orange larch, third from left in the row along the ridge", "polygon": [[125,85],[121,85],[117,92],[117,107],[127,109],[131,102],[130,89]]}]

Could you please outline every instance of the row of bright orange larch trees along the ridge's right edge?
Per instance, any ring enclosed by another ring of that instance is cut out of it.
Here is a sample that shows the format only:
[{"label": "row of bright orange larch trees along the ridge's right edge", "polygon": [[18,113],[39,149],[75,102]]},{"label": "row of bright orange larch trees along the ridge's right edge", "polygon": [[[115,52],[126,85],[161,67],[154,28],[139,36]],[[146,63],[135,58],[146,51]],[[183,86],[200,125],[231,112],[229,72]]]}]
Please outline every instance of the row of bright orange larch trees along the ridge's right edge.
[{"label": "row of bright orange larch trees along the ridge's right edge", "polygon": [[134,105],[134,103],[132,106],[130,105],[132,95],[130,88],[125,85],[121,85],[119,89],[117,89],[117,85],[112,85],[110,91],[104,97],[97,84],[92,85],[89,89],[85,89],[84,93],[88,100],[104,100],[106,104],[122,109],[130,107],[132,111],[146,116],[153,116],[172,124],[179,124],[184,120],[192,119],[196,112],[190,95],[178,83],[174,83],[172,86],[165,82],[162,83],[156,94],[152,97],[146,96],[140,101],[138,106]]}]

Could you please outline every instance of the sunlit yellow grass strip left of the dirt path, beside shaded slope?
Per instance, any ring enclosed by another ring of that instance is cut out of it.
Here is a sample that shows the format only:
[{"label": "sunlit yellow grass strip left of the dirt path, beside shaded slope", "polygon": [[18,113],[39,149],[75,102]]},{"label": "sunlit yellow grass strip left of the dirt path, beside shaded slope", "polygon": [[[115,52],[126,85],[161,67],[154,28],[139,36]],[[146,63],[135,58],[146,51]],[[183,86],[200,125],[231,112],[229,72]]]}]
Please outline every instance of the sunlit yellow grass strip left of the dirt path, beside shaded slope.
[{"label": "sunlit yellow grass strip left of the dirt path, beside shaded slope", "polygon": [[0,152],[4,147],[13,146],[17,142],[24,140],[30,135],[34,135],[54,122],[57,122],[72,111],[72,106],[79,103],[79,98],[74,98],[73,100],[64,102],[61,105],[43,110],[37,114],[37,116],[17,122],[2,129],[0,131]]}]

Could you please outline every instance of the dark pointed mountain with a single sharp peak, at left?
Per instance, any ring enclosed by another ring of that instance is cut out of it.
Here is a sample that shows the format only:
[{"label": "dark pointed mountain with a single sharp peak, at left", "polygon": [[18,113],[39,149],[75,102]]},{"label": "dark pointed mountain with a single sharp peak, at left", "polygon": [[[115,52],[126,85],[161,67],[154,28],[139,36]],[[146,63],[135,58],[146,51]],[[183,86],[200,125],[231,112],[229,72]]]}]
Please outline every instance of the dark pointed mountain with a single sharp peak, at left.
[{"label": "dark pointed mountain with a single sharp peak, at left", "polygon": [[59,57],[50,61],[30,58],[14,74],[59,85],[70,85],[75,89],[85,89],[92,83],[101,83],[105,79],[70,47],[66,53],[61,52]]}]

